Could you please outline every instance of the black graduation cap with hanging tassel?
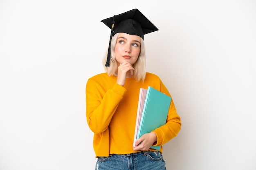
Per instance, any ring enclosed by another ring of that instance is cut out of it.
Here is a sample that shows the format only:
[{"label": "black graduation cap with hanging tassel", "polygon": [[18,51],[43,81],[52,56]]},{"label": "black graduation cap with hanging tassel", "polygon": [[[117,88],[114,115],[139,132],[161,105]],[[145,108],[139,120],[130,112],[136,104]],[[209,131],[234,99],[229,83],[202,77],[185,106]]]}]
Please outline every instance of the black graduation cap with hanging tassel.
[{"label": "black graduation cap with hanging tassel", "polygon": [[116,33],[127,33],[130,35],[138,35],[144,39],[144,34],[158,31],[157,27],[152,24],[138,9],[132,9],[119,15],[114,15],[105,20],[101,20],[108,28],[111,29],[110,41],[108,46],[108,58],[106,67],[110,64],[110,45],[112,37]]}]

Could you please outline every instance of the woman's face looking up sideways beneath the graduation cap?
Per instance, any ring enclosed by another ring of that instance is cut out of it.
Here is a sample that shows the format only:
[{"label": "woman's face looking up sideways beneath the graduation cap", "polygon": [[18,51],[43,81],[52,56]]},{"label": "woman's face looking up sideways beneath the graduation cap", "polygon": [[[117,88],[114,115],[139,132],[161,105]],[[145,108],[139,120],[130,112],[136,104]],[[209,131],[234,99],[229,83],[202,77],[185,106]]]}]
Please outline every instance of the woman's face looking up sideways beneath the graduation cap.
[{"label": "woman's face looking up sideways beneath the graduation cap", "polygon": [[115,58],[118,65],[125,61],[133,65],[139,57],[140,46],[141,37],[138,35],[119,33],[115,46]]}]

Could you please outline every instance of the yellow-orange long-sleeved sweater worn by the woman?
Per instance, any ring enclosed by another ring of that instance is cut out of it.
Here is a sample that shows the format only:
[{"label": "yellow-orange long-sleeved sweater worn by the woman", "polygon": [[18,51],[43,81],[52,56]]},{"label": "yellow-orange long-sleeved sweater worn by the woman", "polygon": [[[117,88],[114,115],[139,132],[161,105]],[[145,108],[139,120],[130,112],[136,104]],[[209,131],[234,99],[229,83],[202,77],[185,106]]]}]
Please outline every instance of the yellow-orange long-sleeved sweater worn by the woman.
[{"label": "yellow-orange long-sleeved sweater worn by the woman", "polygon": [[[94,132],[96,157],[139,152],[132,149],[132,144],[140,88],[151,86],[171,96],[160,78],[152,73],[146,73],[144,83],[133,77],[126,78],[124,87],[116,82],[116,76],[102,73],[89,78],[86,84],[86,117]],[[171,140],[180,128],[180,116],[171,100],[166,124],[154,131],[157,135],[155,146],[162,146]]]}]

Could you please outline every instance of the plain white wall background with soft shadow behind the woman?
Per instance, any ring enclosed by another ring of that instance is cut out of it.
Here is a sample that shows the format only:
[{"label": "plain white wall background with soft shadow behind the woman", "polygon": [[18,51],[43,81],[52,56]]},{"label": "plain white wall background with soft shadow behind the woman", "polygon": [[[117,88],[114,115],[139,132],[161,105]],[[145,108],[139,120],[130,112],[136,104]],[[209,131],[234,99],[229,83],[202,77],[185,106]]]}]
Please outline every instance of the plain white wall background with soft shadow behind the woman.
[{"label": "plain white wall background with soft shadow behind the woman", "polygon": [[255,0],[0,0],[0,170],[92,170],[85,85],[103,72],[110,29],[139,9],[147,71],[173,96],[182,129],[173,170],[256,169]]}]

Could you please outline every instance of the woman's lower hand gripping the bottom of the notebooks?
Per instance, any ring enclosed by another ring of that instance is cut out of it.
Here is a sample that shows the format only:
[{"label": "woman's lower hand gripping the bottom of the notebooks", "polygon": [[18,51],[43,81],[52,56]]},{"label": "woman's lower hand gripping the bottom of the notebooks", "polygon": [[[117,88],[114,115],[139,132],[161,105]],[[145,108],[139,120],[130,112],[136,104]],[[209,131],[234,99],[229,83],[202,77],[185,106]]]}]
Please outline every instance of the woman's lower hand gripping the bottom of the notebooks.
[{"label": "woman's lower hand gripping the bottom of the notebooks", "polygon": [[133,150],[148,150],[156,141],[155,132],[146,133],[136,141],[136,147],[133,147]]}]

